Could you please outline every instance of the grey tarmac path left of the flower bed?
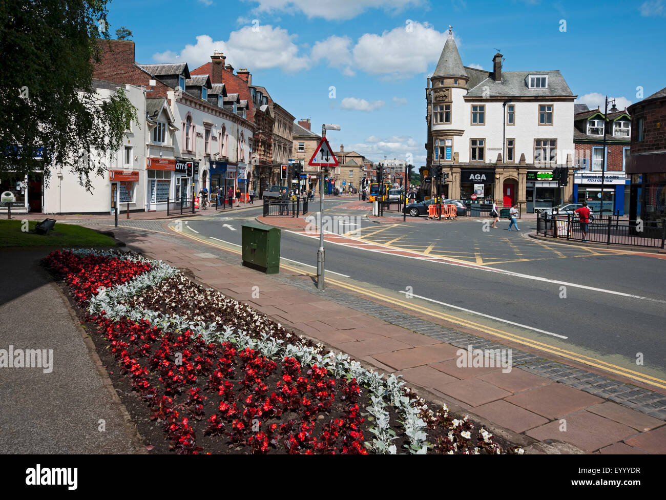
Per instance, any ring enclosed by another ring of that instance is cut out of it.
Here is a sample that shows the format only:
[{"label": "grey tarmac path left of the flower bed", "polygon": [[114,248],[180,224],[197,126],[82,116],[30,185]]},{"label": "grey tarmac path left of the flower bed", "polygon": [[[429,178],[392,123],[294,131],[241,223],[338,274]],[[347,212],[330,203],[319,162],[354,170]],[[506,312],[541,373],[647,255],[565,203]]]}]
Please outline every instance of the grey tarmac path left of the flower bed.
[{"label": "grey tarmac path left of the flower bed", "polygon": [[0,252],[0,349],[53,350],[50,372],[0,368],[0,453],[145,453],[95,346],[39,266],[51,250]]}]

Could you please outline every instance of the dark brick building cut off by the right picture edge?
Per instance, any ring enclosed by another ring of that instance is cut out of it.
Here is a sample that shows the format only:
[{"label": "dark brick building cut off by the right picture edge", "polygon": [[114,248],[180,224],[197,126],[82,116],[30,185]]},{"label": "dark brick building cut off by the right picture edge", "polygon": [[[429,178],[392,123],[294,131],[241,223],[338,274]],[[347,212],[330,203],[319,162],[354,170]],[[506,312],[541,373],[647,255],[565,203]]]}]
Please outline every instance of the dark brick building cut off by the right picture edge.
[{"label": "dark brick building cut off by the right picture edge", "polygon": [[633,117],[629,219],[651,222],[658,233],[666,219],[666,87],[629,106]]}]

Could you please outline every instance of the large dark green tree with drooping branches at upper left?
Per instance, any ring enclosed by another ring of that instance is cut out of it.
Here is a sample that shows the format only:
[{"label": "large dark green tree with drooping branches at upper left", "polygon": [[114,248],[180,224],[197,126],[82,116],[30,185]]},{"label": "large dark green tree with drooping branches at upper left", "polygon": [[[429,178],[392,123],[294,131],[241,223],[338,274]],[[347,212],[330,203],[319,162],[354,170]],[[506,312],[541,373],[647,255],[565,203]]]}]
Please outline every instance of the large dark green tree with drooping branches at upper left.
[{"label": "large dark green tree with drooping branches at upper left", "polygon": [[[93,63],[108,43],[108,0],[0,2],[0,176],[69,170],[87,189],[103,175],[137,109],[101,100]],[[92,152],[92,154],[91,154]]]}]

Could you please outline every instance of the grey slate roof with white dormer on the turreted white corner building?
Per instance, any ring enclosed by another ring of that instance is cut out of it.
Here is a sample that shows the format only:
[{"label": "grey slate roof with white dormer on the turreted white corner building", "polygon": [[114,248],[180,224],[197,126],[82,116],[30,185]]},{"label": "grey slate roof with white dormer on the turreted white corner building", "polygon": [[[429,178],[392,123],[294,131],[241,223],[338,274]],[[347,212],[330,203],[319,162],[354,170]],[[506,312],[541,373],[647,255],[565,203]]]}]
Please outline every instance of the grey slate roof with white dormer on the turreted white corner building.
[{"label": "grey slate roof with white dormer on the turreted white corner building", "polygon": [[[529,89],[527,75],[547,75],[547,89]],[[549,71],[502,71],[501,81],[488,77],[471,89],[465,97],[483,97],[488,87],[490,97],[575,97],[559,70]]]}]

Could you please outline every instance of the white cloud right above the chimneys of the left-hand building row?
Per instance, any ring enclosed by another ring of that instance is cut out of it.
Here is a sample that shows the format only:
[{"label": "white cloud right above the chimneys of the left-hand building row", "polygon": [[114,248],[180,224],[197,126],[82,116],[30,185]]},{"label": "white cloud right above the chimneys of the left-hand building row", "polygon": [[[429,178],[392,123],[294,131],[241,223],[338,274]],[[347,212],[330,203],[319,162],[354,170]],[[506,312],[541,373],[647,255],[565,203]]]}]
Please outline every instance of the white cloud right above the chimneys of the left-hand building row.
[{"label": "white cloud right above the chimneys of the left-hand building row", "polygon": [[210,61],[213,51],[221,51],[226,55],[226,62],[234,68],[300,71],[310,66],[310,59],[299,55],[294,37],[296,35],[290,35],[286,29],[271,25],[260,25],[256,31],[252,26],[244,26],[232,31],[227,41],[213,41],[208,35],[199,35],[195,45],[186,45],[180,53],[155,53],[153,60],[168,63],[175,61],[178,55],[178,61],[196,68]]}]

